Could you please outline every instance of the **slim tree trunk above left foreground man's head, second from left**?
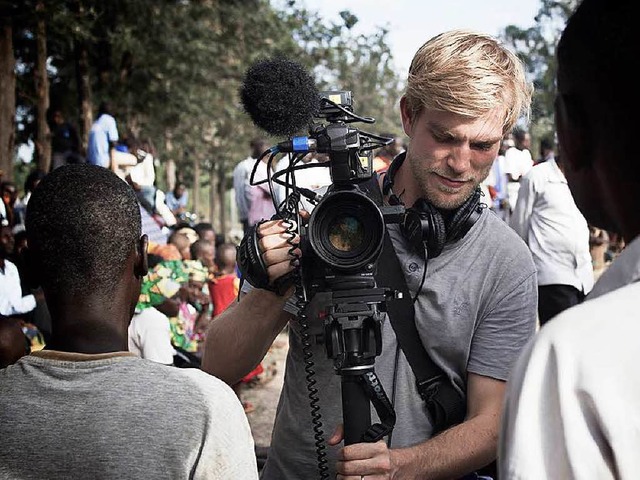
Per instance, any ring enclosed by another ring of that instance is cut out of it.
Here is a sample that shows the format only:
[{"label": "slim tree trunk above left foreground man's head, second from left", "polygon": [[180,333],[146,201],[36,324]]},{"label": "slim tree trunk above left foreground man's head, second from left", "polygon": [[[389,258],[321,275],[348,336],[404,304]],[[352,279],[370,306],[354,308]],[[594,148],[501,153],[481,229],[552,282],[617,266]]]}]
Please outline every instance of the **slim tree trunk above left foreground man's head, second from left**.
[{"label": "slim tree trunk above left foreground man's head, second from left", "polygon": [[37,119],[36,119],[36,154],[38,158],[38,168],[48,172],[51,166],[51,130],[47,121],[49,110],[49,78],[47,77],[47,32],[44,21],[44,1],[40,0],[36,5],[36,98],[37,98]]}]

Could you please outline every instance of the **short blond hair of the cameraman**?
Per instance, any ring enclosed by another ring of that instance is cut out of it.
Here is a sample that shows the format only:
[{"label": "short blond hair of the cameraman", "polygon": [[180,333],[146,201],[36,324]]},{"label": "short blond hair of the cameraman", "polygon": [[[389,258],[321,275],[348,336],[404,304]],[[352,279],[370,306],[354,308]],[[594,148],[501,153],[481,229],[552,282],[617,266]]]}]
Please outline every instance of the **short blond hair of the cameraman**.
[{"label": "short blond hair of the cameraman", "polygon": [[479,118],[504,105],[506,133],[528,115],[532,92],[522,62],[498,40],[452,30],[427,41],[415,54],[405,98],[414,116],[428,108]]}]

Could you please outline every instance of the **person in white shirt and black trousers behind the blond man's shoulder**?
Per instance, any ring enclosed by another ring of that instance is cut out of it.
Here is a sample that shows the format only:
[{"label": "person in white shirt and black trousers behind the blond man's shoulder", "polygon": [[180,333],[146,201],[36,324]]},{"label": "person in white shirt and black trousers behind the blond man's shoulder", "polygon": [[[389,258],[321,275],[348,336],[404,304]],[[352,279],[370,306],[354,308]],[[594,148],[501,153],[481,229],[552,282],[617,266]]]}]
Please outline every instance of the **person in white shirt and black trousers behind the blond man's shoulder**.
[{"label": "person in white shirt and black trousers behind the blond man's shoulder", "polygon": [[553,154],[521,178],[510,225],[536,264],[538,317],[544,325],[582,302],[593,287],[589,226]]}]

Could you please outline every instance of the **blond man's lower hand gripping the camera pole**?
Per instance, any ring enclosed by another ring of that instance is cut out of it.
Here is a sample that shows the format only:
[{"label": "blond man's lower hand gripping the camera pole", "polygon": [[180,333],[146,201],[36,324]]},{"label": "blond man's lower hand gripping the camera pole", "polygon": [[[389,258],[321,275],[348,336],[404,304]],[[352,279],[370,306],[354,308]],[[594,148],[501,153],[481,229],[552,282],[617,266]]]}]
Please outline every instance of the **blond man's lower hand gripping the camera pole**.
[{"label": "blond man's lower hand gripping the camera pole", "polygon": [[[343,438],[343,426],[338,425],[327,443],[334,446]],[[391,450],[384,440],[347,445],[338,452],[336,472],[337,480],[361,480],[362,477],[367,480],[390,480],[395,474]]]}]

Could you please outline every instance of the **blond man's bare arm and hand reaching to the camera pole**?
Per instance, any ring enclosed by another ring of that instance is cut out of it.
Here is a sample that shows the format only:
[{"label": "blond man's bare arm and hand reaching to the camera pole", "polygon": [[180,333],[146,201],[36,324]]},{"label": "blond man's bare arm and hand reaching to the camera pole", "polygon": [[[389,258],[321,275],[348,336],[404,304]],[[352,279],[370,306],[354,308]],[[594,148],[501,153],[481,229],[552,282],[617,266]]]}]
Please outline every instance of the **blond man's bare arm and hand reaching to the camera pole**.
[{"label": "blond man's bare arm and hand reaching to the camera pole", "polygon": [[[337,471],[341,475],[437,480],[481,468],[496,457],[504,391],[505,382],[469,373],[463,423],[408,448],[388,449],[384,441],[346,446],[339,454]],[[336,440],[334,436],[329,443]]]}]

